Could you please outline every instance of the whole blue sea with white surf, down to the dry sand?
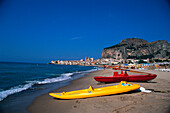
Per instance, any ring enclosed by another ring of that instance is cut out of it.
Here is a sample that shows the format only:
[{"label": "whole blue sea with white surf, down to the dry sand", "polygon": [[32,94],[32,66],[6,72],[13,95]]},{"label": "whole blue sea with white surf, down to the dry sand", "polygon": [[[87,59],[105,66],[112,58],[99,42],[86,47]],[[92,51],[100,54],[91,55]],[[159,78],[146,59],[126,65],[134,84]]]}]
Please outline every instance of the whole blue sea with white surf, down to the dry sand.
[{"label": "whole blue sea with white surf, down to the dry sand", "polygon": [[0,62],[0,112],[28,113],[26,107],[37,96],[95,70],[94,66]]}]

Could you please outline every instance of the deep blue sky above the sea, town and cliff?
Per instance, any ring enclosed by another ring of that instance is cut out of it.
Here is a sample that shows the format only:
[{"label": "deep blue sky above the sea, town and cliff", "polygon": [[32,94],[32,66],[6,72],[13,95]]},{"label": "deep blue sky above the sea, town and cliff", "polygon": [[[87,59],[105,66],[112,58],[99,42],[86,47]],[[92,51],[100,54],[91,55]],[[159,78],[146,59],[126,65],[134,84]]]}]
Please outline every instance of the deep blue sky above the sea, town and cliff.
[{"label": "deep blue sky above the sea, town and cliff", "polygon": [[0,61],[101,57],[125,38],[170,41],[169,0],[0,0]]}]

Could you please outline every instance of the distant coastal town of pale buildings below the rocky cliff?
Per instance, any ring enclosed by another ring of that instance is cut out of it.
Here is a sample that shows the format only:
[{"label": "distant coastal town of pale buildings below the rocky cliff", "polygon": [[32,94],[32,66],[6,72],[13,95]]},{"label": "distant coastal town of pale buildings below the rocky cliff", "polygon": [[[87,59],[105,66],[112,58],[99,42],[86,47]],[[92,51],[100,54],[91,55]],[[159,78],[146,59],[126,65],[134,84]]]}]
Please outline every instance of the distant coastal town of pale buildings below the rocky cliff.
[{"label": "distant coastal town of pale buildings below the rocky cliff", "polygon": [[82,66],[121,66],[135,69],[167,69],[170,66],[170,59],[113,59],[100,58],[95,60],[91,57],[85,57],[81,60],[52,60],[50,64],[59,65],[82,65]]}]

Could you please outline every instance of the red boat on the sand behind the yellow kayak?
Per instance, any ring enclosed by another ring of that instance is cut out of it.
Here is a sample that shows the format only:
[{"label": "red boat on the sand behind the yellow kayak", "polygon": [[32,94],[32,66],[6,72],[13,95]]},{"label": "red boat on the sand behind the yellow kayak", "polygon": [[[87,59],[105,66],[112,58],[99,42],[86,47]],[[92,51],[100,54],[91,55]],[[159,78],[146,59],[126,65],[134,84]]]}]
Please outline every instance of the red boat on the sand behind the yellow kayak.
[{"label": "red boat on the sand behind the yellow kayak", "polygon": [[156,78],[156,74],[147,74],[147,75],[128,75],[127,72],[118,74],[118,72],[114,72],[114,76],[110,77],[102,77],[96,76],[94,79],[99,82],[120,82],[120,81],[128,81],[128,82],[144,82],[149,81]]}]

